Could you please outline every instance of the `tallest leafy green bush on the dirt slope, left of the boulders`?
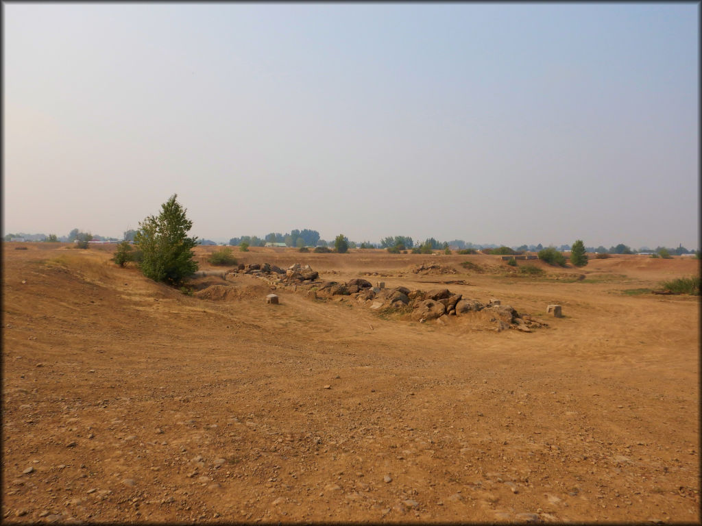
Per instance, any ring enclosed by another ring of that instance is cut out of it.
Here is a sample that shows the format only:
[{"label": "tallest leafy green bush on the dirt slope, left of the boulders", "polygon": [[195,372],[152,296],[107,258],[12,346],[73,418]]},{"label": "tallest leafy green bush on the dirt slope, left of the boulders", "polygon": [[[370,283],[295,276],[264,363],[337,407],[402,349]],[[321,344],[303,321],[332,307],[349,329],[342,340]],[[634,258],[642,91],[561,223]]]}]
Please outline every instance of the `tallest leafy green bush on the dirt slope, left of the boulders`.
[{"label": "tallest leafy green bush on the dirt slope, left of the boulders", "polygon": [[183,278],[197,271],[192,248],[197,237],[187,237],[192,221],[173,194],[161,205],[161,213],[150,215],[139,223],[135,245],[143,252],[139,263],[144,276],[154,281],[178,285]]}]

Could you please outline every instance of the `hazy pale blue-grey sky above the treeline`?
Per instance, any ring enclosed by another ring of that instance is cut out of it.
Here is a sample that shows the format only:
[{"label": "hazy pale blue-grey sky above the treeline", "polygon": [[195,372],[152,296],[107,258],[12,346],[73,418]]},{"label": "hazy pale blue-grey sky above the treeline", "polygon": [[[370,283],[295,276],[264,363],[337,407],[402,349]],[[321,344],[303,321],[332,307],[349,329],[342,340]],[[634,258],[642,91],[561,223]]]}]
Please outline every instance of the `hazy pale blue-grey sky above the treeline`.
[{"label": "hazy pale blue-grey sky above the treeline", "polygon": [[4,233],[698,247],[698,4],[2,8]]}]

